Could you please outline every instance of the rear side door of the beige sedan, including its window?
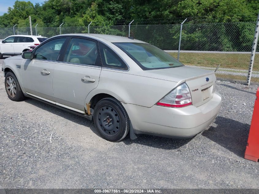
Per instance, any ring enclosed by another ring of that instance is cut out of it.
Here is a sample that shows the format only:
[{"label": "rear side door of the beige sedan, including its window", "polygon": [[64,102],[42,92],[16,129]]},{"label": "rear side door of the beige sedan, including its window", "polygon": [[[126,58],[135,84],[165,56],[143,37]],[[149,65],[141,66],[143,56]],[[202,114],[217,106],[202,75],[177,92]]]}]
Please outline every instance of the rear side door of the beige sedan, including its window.
[{"label": "rear side door of the beige sedan, including its window", "polygon": [[57,105],[85,112],[88,93],[97,87],[101,60],[96,40],[71,37],[66,52],[53,74],[53,95]]}]

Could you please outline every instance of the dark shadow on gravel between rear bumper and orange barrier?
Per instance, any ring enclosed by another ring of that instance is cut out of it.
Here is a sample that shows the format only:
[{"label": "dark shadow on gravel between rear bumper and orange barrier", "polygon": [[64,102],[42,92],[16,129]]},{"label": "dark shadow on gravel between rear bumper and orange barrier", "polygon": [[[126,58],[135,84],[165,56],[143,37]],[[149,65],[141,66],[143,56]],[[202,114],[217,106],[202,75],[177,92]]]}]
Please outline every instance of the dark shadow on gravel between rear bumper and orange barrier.
[{"label": "dark shadow on gravel between rear bumper and orange barrier", "polygon": [[250,125],[222,116],[216,117],[214,123],[218,126],[210,127],[202,135],[243,158]]}]

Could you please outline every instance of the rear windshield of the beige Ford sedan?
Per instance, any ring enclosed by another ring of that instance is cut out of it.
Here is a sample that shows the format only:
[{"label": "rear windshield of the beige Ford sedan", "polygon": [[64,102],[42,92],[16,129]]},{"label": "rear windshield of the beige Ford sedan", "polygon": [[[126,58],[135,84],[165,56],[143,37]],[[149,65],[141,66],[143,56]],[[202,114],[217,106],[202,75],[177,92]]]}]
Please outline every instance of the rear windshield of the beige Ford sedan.
[{"label": "rear windshield of the beige Ford sedan", "polygon": [[165,51],[145,43],[113,43],[131,57],[143,70],[183,66]]}]

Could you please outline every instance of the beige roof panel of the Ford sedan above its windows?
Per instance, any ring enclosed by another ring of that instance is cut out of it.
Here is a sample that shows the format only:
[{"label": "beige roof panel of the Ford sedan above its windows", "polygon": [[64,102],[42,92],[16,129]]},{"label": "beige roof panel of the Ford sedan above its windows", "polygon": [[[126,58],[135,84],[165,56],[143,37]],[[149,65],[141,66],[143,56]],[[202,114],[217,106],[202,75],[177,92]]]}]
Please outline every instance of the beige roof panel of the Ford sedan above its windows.
[{"label": "beige roof panel of the Ford sedan above its windows", "polygon": [[135,43],[146,43],[141,40],[136,40],[136,39],[130,39],[128,37],[123,37],[123,36],[115,36],[115,35],[108,35],[108,34],[62,34],[58,36],[84,36],[84,37],[89,37],[89,38],[94,38],[98,40],[106,40],[111,43],[115,42],[135,42]]}]

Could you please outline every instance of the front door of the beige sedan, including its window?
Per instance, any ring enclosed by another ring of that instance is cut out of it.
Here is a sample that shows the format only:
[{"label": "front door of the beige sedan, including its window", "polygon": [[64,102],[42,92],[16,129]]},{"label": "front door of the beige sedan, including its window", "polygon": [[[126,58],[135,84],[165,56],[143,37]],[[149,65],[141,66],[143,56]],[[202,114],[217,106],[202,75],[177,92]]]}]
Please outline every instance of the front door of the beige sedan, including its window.
[{"label": "front door of the beige sedan, including its window", "polygon": [[22,85],[27,94],[55,104],[52,90],[54,68],[66,37],[47,41],[33,50],[33,59],[24,60],[21,68]]}]

